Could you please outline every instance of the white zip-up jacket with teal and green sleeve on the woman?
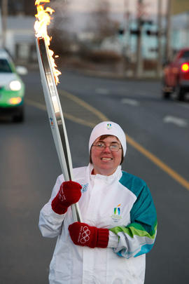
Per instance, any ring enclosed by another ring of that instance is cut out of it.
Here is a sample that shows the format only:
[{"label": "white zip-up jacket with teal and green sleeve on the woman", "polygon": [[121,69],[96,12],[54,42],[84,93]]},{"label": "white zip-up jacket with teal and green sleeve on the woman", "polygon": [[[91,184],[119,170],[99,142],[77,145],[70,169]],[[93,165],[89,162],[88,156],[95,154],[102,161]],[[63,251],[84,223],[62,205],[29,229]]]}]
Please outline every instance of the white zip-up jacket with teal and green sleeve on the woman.
[{"label": "white zip-up jacket with teal and green sleeve on the woman", "polygon": [[91,164],[73,169],[73,180],[83,187],[78,204],[83,222],[111,229],[108,248],[81,247],[71,241],[68,231],[73,223],[71,208],[63,215],[51,208],[51,201],[64,181],[60,175],[39,218],[43,236],[57,237],[50,263],[50,284],[142,284],[145,253],[153,246],[157,224],[150,191],[142,180],[122,172],[120,166],[108,177],[91,175],[91,171]]}]

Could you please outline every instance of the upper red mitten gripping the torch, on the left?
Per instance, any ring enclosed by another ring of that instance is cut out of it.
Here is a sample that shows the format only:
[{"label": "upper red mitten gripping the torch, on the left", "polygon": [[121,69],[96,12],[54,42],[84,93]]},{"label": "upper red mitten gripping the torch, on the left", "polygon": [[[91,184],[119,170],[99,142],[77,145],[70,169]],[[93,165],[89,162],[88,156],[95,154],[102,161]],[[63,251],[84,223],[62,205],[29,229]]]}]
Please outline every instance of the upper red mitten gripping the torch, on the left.
[{"label": "upper red mitten gripping the torch, on the left", "polygon": [[52,210],[57,214],[64,214],[71,204],[79,201],[81,196],[80,189],[82,187],[78,182],[72,182],[71,180],[62,182],[57,196],[52,200]]}]

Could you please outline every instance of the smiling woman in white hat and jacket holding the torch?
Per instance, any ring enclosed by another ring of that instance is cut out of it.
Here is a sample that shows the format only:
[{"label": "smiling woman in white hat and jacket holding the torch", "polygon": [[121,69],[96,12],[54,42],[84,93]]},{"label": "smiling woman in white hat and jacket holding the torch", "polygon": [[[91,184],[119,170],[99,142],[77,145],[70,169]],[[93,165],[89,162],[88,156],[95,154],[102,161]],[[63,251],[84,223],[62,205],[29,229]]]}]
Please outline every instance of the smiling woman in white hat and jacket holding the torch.
[{"label": "smiling woman in white hat and jacket holding the torch", "polygon": [[[146,183],[121,170],[126,149],[117,123],[99,123],[90,135],[90,164],[73,169],[75,182],[57,177],[39,219],[43,236],[57,237],[51,284],[144,283],[157,218]],[[82,223],[73,222],[76,202]]]}]

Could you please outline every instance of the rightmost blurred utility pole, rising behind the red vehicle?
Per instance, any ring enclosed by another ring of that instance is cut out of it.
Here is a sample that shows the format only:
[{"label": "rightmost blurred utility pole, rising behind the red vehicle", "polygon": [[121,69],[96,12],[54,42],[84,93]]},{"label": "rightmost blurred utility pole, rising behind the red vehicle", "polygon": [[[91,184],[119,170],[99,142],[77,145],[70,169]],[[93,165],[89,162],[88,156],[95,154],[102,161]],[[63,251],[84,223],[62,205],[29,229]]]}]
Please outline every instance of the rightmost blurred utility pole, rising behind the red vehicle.
[{"label": "rightmost blurred utility pole, rising behind the red vehicle", "polygon": [[172,46],[171,46],[171,30],[172,30],[172,0],[167,0],[167,42],[165,48],[166,60],[169,61],[172,58]]}]

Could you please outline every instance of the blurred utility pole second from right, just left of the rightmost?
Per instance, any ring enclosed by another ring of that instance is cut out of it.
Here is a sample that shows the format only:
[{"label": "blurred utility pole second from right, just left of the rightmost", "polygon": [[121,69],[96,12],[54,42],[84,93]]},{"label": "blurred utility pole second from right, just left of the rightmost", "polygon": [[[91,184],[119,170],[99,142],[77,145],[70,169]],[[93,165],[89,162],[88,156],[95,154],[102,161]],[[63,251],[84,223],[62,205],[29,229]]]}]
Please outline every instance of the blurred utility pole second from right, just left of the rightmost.
[{"label": "blurred utility pole second from right, just left of the rightmost", "polygon": [[158,0],[158,62],[157,74],[162,73],[162,0]]}]

